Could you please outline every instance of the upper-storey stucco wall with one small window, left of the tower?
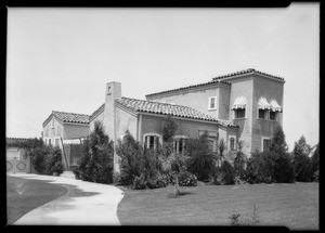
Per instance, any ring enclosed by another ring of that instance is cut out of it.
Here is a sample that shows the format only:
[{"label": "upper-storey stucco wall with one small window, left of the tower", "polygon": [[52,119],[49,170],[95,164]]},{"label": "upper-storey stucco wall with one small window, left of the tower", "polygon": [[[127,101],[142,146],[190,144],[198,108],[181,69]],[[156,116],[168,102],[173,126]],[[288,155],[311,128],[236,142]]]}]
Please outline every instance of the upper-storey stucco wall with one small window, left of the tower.
[{"label": "upper-storey stucco wall with one small window, left of the tower", "polygon": [[[229,92],[230,85],[217,82],[146,96],[146,100],[190,106],[214,118],[227,119]],[[217,109],[209,109],[209,98],[211,96],[217,96]]]}]

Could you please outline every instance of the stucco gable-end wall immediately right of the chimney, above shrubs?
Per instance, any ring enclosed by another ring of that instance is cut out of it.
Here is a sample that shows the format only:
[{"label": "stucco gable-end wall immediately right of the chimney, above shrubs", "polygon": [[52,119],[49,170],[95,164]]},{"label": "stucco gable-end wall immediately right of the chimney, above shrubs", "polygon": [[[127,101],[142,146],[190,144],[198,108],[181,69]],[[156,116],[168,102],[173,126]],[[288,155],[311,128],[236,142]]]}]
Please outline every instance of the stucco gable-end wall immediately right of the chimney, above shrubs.
[{"label": "stucco gable-end wall immediately right of the chimney, above shrubs", "polygon": [[[125,109],[116,107],[116,138],[121,139],[127,130],[136,139],[138,117]],[[110,135],[109,135],[110,138]]]}]

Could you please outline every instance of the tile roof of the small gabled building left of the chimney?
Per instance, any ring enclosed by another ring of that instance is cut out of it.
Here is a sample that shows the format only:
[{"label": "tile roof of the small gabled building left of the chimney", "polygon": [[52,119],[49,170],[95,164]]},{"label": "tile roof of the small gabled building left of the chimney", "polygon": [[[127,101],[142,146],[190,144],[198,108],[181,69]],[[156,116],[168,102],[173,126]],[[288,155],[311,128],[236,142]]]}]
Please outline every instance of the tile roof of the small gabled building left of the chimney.
[{"label": "tile roof of the small gabled building left of the chimney", "polygon": [[43,127],[50,121],[52,116],[56,117],[61,122],[75,122],[75,124],[89,124],[89,115],[86,114],[75,114],[75,113],[65,113],[58,111],[52,111],[52,114],[43,122]]}]

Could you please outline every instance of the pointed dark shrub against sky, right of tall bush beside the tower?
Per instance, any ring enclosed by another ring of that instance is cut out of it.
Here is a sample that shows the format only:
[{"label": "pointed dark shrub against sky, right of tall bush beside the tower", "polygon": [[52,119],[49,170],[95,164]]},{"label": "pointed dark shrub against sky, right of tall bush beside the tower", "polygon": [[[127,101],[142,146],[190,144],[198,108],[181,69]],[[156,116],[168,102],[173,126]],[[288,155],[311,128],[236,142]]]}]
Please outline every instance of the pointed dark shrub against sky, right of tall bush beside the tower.
[{"label": "pointed dark shrub against sky, right of tall bush beside the tower", "polygon": [[302,135],[298,142],[295,142],[294,147],[294,167],[296,173],[296,180],[302,182],[310,182],[313,180],[313,163],[310,157],[310,145],[307,144],[304,137]]}]

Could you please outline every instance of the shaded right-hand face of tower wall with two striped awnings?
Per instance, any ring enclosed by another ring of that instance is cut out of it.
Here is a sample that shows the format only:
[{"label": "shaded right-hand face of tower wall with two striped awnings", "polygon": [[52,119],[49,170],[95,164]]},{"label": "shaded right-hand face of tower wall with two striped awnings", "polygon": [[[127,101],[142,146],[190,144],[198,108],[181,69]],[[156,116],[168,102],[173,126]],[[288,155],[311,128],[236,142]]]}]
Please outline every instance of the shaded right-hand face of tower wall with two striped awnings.
[{"label": "shaded right-hand face of tower wall with two striped awnings", "polygon": [[264,96],[270,103],[271,99],[283,106],[284,82],[263,78],[253,77],[253,98],[252,98],[252,145],[251,148],[262,151],[262,139],[272,138],[273,130],[276,126],[282,125],[283,113],[277,113],[276,120],[258,118],[258,101]]}]

